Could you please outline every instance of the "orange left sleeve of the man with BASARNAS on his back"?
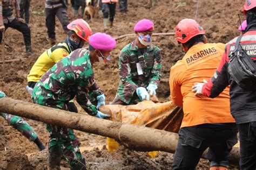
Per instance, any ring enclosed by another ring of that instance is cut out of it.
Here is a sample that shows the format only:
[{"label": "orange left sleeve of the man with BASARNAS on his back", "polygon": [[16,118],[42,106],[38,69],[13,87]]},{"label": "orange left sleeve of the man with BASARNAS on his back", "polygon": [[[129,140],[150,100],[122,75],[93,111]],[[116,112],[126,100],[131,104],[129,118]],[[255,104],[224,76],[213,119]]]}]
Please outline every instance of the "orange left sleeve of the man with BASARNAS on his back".
[{"label": "orange left sleeve of the man with BASARNAS on his back", "polygon": [[181,94],[181,83],[179,81],[178,73],[175,73],[174,67],[171,68],[170,72],[170,92],[171,92],[171,100],[178,107],[183,107],[183,95]]}]

